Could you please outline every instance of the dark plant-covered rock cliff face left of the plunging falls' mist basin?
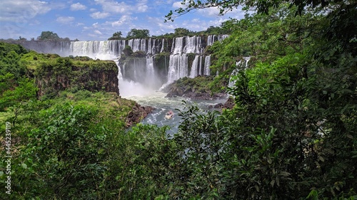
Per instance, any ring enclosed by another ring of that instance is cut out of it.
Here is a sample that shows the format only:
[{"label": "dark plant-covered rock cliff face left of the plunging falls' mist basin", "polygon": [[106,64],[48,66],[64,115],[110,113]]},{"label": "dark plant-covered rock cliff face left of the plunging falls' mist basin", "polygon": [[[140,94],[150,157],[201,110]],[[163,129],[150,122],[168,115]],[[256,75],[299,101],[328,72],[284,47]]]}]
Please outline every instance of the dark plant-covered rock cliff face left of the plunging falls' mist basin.
[{"label": "dark plant-covered rock cliff face left of the plunging falls' mist basin", "polygon": [[35,70],[38,95],[56,95],[61,90],[106,91],[119,94],[118,68],[112,60],[74,61],[58,58]]}]

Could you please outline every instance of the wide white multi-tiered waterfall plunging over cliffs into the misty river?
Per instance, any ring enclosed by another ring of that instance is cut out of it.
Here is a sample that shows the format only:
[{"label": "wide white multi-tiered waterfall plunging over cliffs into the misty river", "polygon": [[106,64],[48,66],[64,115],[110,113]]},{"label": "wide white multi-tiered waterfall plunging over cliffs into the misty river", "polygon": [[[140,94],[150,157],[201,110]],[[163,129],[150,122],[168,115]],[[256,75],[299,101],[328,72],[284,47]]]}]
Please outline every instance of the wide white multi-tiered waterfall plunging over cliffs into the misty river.
[{"label": "wide white multi-tiered waterfall plunging over cliffs into the misty river", "polygon": [[[226,37],[211,35],[46,43],[29,41],[24,46],[41,53],[57,53],[60,56],[89,56],[94,59],[115,60],[119,67],[119,85],[123,86],[125,82],[135,85],[135,90],[138,85],[157,90],[161,85],[172,83],[178,78],[210,75],[211,56],[204,50]],[[120,58],[126,46],[130,46],[134,53],[123,60]],[[121,93],[124,90],[120,88]]]}]

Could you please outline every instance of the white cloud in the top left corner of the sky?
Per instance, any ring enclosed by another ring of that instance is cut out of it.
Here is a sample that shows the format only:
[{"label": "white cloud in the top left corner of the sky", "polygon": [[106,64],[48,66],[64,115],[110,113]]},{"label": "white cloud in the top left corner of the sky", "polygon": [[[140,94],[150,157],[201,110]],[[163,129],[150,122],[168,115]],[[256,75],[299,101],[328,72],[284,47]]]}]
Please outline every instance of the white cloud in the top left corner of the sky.
[{"label": "white cloud in the top left corner of the sky", "polygon": [[1,0],[0,21],[24,23],[39,14],[46,14],[51,9],[51,5],[45,1]]}]

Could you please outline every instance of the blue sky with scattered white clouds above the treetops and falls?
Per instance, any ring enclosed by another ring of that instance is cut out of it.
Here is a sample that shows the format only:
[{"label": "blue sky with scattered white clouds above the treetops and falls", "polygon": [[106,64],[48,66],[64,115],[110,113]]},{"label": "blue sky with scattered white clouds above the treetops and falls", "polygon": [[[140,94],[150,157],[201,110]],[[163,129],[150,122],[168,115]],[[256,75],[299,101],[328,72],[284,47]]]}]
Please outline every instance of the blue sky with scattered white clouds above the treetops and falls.
[{"label": "blue sky with scattered white clouds above the treetops and falls", "polygon": [[116,31],[123,36],[131,30],[148,29],[151,36],[174,32],[175,28],[204,31],[229,19],[243,18],[231,11],[218,16],[218,9],[193,11],[164,23],[170,10],[182,6],[179,0],[1,0],[0,38],[37,38],[42,31],[53,31],[61,38],[80,41],[107,40]]}]

